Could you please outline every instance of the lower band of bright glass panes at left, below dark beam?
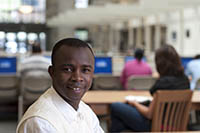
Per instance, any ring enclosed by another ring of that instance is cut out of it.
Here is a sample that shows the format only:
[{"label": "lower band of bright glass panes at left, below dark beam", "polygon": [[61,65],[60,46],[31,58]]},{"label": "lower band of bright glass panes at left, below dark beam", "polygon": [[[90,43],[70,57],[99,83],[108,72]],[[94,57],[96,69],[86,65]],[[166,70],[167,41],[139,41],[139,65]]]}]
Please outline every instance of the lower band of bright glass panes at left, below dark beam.
[{"label": "lower band of bright glass panes at left, below dark beam", "polygon": [[7,53],[26,53],[29,51],[33,43],[40,43],[43,50],[46,49],[46,34],[19,32],[4,32],[0,31],[0,49]]}]

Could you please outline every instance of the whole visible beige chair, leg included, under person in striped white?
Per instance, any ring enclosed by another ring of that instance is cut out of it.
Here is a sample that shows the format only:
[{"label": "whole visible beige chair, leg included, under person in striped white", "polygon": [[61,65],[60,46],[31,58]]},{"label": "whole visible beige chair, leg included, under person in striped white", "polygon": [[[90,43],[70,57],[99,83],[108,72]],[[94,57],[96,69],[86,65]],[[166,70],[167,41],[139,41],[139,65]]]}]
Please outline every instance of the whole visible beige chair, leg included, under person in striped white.
[{"label": "whole visible beige chair, leg included, under person in striped white", "polygon": [[51,78],[47,69],[30,69],[22,72],[20,95],[18,97],[18,119],[20,120],[26,106],[32,104],[51,87]]}]

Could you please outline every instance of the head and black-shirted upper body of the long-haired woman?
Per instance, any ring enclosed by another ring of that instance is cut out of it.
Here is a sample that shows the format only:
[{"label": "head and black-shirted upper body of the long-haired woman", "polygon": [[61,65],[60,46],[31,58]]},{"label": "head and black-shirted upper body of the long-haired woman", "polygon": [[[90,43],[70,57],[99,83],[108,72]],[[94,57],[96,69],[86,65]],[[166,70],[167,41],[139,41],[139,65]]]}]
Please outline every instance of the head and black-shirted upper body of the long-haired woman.
[{"label": "head and black-shirted upper body of the long-haired woman", "polygon": [[156,51],[156,69],[160,78],[150,89],[153,95],[157,90],[189,89],[190,83],[184,74],[184,68],[178,53],[170,45],[164,45]]}]

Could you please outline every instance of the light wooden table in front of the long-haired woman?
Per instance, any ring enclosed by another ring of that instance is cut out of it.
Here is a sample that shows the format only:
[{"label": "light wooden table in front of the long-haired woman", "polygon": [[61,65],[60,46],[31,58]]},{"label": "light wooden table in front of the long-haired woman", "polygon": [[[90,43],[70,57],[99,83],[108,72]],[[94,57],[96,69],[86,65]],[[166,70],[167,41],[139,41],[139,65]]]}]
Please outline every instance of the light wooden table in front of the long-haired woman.
[{"label": "light wooden table in front of the long-haired woman", "polygon": [[[91,106],[97,115],[109,114],[109,105],[113,102],[125,102],[125,96],[151,96],[149,91],[112,91],[92,90],[88,91],[83,101]],[[200,91],[194,91],[192,97],[192,109],[200,110]]]}]

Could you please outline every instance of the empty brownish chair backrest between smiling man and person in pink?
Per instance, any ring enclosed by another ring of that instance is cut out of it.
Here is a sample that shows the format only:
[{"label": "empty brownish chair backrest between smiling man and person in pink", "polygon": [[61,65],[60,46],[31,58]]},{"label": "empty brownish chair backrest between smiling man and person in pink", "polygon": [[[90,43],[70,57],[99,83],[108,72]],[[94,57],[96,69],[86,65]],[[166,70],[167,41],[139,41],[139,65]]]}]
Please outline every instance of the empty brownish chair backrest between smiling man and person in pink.
[{"label": "empty brownish chair backrest between smiling man and person in pink", "polygon": [[96,75],[93,81],[93,90],[120,90],[122,85],[119,76]]}]

